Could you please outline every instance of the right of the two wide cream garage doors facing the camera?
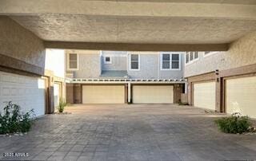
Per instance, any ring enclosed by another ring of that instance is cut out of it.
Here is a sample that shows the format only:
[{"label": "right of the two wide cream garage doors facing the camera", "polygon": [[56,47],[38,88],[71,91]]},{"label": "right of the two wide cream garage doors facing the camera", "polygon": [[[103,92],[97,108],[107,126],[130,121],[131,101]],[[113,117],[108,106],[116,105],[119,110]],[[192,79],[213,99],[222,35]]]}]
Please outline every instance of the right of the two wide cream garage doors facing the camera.
[{"label": "right of the two wide cream garage doors facing the camera", "polygon": [[173,104],[173,85],[134,85],[133,103],[138,104]]}]

